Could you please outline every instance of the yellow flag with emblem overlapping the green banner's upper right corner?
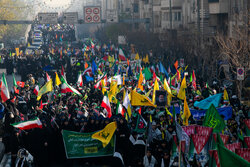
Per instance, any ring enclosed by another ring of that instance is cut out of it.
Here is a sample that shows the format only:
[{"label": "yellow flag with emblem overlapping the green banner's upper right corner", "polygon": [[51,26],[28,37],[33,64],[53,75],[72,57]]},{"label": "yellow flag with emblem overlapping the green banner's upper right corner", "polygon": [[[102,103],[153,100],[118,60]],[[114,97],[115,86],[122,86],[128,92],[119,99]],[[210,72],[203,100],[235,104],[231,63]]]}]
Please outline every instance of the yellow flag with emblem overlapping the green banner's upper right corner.
[{"label": "yellow flag with emblem overlapping the green banner's upper right corner", "polygon": [[105,148],[112,139],[116,128],[117,128],[116,122],[111,122],[108,125],[106,125],[103,130],[94,133],[91,137],[93,139],[100,140],[102,142],[102,146]]}]

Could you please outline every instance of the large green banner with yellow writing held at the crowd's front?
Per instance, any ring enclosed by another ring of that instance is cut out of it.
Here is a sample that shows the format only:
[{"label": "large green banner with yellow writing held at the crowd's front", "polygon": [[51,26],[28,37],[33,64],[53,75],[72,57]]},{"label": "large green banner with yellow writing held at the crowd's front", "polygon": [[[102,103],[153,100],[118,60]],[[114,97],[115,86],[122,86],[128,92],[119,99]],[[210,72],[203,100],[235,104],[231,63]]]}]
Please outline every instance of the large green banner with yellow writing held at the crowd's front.
[{"label": "large green banner with yellow writing held at the crowd's front", "polygon": [[103,148],[102,142],[92,139],[93,133],[79,133],[63,130],[63,142],[68,159],[113,156],[115,150],[115,137]]}]

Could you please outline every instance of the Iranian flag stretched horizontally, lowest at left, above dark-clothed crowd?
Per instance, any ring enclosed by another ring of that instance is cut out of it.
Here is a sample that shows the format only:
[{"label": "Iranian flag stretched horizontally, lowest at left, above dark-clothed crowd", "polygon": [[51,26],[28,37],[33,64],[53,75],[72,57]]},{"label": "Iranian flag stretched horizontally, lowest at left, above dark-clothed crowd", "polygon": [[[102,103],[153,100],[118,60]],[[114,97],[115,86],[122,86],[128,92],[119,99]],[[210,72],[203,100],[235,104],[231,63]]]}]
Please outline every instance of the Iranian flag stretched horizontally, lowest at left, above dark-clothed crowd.
[{"label": "Iranian flag stretched horizontally, lowest at left, above dark-clothed crowd", "polygon": [[11,124],[15,128],[18,128],[20,130],[28,130],[33,128],[42,128],[42,122],[39,118],[31,119],[28,121],[18,122]]}]

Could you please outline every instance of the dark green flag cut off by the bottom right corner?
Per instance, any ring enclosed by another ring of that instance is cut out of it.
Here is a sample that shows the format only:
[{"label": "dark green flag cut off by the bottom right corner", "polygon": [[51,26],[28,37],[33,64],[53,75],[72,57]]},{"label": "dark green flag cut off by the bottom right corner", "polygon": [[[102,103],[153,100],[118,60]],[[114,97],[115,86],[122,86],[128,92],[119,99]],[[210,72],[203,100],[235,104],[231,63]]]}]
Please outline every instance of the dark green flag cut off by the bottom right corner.
[{"label": "dark green flag cut off by the bottom right corner", "polygon": [[219,142],[217,143],[217,151],[221,167],[250,167],[250,163],[247,160],[228,150]]}]

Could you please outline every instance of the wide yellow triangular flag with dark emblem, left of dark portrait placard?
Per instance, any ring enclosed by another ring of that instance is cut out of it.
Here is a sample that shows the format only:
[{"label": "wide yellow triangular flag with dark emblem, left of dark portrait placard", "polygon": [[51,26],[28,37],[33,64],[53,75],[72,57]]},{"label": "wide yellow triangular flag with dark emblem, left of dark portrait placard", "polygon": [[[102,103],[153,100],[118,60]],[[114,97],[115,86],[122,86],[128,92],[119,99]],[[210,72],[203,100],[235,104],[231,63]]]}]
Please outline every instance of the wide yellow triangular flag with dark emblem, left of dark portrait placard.
[{"label": "wide yellow triangular flag with dark emblem, left of dark portrait placard", "polygon": [[153,106],[153,107],[156,107],[156,105],[154,105],[154,103],[152,101],[150,101],[146,96],[143,96],[134,90],[132,90],[132,92],[131,92],[131,105],[132,106]]}]

